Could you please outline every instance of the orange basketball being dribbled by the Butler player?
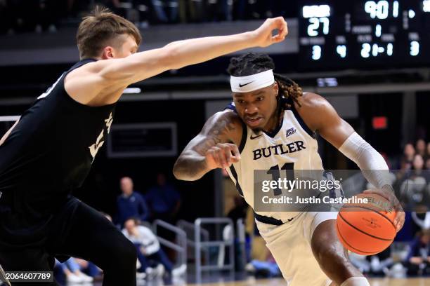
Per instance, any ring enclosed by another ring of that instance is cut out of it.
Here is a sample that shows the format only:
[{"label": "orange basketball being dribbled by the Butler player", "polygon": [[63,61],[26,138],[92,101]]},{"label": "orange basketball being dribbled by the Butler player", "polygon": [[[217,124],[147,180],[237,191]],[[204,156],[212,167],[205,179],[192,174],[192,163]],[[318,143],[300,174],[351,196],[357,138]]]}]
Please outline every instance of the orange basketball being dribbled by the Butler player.
[{"label": "orange basketball being dribbled by the Butler player", "polygon": [[396,237],[393,224],[396,212],[388,209],[386,198],[374,193],[360,193],[367,203],[344,204],[337,214],[337,236],[347,250],[372,255],[389,247]]}]

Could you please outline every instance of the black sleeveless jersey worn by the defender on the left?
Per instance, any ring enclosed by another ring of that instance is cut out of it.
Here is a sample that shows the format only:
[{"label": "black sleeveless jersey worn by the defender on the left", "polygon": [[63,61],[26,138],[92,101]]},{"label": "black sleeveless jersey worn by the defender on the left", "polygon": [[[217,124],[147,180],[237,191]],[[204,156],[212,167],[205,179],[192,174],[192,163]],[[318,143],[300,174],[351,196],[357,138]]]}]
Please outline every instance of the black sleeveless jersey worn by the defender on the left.
[{"label": "black sleeveless jersey worn by the defender on the left", "polygon": [[41,232],[81,186],[112,124],[115,104],[89,107],[64,88],[66,71],[22,114],[0,146],[0,236]]}]

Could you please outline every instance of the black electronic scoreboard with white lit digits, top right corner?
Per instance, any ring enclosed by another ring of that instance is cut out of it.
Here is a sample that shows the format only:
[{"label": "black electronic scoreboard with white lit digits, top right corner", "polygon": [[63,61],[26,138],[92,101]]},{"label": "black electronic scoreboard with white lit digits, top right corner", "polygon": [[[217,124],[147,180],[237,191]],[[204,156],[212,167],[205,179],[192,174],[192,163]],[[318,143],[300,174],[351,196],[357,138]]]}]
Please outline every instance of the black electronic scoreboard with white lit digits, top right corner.
[{"label": "black electronic scoreboard with white lit digits, top right corner", "polygon": [[299,1],[301,69],[430,64],[430,0]]}]

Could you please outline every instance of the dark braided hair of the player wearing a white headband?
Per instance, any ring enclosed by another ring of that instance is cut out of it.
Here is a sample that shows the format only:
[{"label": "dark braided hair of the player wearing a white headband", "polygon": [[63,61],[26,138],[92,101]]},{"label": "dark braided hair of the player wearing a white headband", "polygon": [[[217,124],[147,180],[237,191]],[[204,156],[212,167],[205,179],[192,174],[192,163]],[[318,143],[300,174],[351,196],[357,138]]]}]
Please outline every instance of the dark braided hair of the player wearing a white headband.
[{"label": "dark braided hair of the player wearing a white headband", "polygon": [[[258,74],[259,72],[267,71],[268,69],[275,69],[275,63],[272,58],[266,54],[261,53],[247,53],[240,55],[239,57],[232,57],[230,64],[228,65],[228,74],[231,76],[249,76],[251,74]],[[280,74],[275,74],[275,81],[278,82],[279,93],[278,93],[278,109],[282,109],[282,96],[285,99],[291,99],[292,102],[296,102],[299,107],[299,97],[303,94],[301,87]],[[290,107],[290,104],[287,104]]]}]

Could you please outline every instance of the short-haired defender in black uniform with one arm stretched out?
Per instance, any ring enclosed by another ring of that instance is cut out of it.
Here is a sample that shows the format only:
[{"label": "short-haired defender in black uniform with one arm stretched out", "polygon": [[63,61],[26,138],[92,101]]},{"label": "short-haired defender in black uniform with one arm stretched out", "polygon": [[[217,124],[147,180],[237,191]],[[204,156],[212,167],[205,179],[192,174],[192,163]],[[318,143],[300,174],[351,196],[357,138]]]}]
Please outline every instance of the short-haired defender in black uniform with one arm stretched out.
[{"label": "short-haired defender in black uniform with one arm stretched out", "polygon": [[50,271],[54,257],[81,257],[103,269],[103,285],[136,285],[133,244],[72,196],[103,146],[116,102],[131,83],[236,50],[269,46],[286,35],[285,20],[273,18],[252,32],[176,41],[136,53],[141,36],[131,22],[100,9],[84,18],[77,32],[81,61],[40,95],[0,141],[4,270]]}]

